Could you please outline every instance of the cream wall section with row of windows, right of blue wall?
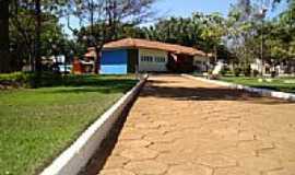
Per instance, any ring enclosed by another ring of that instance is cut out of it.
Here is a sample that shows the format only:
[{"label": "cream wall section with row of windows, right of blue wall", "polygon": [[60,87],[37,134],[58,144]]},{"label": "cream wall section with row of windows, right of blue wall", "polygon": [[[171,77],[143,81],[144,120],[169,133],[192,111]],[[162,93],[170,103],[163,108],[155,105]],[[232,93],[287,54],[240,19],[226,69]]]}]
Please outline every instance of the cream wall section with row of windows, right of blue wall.
[{"label": "cream wall section with row of windows, right of blue wall", "polygon": [[165,72],[167,71],[168,52],[156,49],[139,49],[140,72]]}]

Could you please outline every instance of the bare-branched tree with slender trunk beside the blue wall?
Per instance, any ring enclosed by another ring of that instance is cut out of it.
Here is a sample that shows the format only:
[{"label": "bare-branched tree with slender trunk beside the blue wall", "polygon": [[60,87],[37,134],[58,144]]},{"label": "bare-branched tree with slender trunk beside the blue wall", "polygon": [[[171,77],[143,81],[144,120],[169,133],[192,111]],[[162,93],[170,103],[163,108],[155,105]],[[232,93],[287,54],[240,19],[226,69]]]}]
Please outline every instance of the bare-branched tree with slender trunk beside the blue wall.
[{"label": "bare-branched tree with slender trunk beside the blue wall", "polygon": [[[121,22],[139,24],[151,16],[151,5],[155,0],[70,0],[66,14],[70,24],[70,16],[80,19],[81,25],[87,25],[85,35],[88,47],[94,47],[96,58],[94,73],[98,73],[99,54],[106,43],[117,37],[116,30]],[[99,31],[95,31],[99,24]],[[69,28],[72,28],[69,25]],[[73,30],[74,31],[74,30]]]}]

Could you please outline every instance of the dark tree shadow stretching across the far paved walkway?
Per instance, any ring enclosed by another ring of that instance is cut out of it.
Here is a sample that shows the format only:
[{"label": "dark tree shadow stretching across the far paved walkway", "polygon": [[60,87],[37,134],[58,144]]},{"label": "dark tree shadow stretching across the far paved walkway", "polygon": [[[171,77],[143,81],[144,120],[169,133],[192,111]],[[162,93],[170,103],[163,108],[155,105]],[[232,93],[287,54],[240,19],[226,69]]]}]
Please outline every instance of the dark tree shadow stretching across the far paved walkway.
[{"label": "dark tree shadow stretching across the far paved walkway", "polygon": [[173,98],[175,101],[244,101],[268,105],[292,103],[276,98],[262,97],[256,93],[226,88],[161,86],[156,81],[149,82],[148,84],[149,85],[145,86],[144,91],[141,93],[142,97],[153,96]]}]

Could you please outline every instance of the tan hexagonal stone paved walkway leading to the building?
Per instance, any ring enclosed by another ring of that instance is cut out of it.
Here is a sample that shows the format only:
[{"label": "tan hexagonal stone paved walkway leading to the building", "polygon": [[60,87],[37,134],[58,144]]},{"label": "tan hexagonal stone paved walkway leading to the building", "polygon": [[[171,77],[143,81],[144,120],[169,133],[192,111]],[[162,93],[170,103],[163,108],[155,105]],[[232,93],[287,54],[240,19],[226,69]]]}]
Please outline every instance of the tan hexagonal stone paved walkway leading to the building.
[{"label": "tan hexagonal stone paved walkway leading to the building", "polygon": [[295,175],[295,104],[153,75],[98,174]]}]

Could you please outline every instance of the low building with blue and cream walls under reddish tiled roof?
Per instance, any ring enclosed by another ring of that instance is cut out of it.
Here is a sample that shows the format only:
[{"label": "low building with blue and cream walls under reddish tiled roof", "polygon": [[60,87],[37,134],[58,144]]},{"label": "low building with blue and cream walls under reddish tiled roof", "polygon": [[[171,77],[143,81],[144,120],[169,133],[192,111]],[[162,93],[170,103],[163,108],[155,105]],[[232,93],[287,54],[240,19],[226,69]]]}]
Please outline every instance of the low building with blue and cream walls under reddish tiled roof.
[{"label": "low building with blue and cream walls under reddish tiled roof", "polygon": [[[88,51],[94,51],[94,48],[90,48]],[[191,47],[125,38],[104,46],[99,72],[102,74],[202,72],[206,71],[208,61],[203,51]]]}]

